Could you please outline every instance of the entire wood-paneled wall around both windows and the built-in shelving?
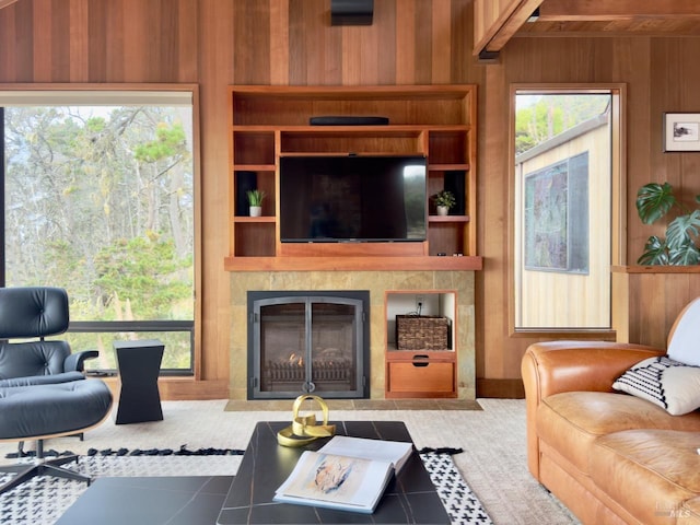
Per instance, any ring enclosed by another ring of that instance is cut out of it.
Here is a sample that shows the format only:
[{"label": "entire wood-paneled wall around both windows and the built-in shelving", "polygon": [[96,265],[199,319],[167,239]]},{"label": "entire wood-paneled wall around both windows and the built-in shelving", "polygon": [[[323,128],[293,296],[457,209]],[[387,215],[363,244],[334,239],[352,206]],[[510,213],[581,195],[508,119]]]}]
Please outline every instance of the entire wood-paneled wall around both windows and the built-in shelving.
[{"label": "entire wood-paneled wall around both windows and the built-in shelving", "polygon": [[[485,67],[471,56],[471,0],[380,0],[374,24],[365,27],[330,27],[329,5],[329,0],[19,0],[0,10],[0,83],[199,84],[206,381],[202,387],[173,386],[170,397],[226,396],[230,341],[236,335],[230,332],[231,275],[223,270],[225,86],[479,84],[479,250],[486,269],[477,277],[477,376],[485,385],[481,395],[508,394],[534,340],[509,334],[510,83],[628,83],[630,194],[649,180],[668,179],[696,195],[700,155],[662,153],[661,116],[700,110],[700,39],[515,38],[500,63]],[[629,197],[630,261],[650,234],[638,224],[632,202]]]}]

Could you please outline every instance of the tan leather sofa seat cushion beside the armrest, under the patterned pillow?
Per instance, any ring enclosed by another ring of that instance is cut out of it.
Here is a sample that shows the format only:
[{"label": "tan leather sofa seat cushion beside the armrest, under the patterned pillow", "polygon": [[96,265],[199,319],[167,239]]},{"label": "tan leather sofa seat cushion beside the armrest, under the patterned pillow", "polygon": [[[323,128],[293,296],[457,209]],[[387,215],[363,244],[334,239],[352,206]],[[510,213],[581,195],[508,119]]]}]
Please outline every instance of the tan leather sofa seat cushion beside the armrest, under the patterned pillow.
[{"label": "tan leather sofa seat cushion beside the armrest, under the patterned pillow", "polygon": [[588,474],[593,442],[633,429],[700,432],[700,410],[674,417],[644,399],[606,392],[563,392],[549,396],[537,410],[537,433],[581,472]]}]

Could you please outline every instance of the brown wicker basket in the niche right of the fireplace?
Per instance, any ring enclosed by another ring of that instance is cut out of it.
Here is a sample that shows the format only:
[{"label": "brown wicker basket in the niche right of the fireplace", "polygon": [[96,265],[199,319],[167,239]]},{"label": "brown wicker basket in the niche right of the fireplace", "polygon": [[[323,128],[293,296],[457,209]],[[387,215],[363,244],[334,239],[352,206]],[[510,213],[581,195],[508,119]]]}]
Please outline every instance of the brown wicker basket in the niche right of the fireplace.
[{"label": "brown wicker basket in the niche right of the fireplace", "polygon": [[397,315],[398,350],[448,350],[450,319],[436,315]]}]

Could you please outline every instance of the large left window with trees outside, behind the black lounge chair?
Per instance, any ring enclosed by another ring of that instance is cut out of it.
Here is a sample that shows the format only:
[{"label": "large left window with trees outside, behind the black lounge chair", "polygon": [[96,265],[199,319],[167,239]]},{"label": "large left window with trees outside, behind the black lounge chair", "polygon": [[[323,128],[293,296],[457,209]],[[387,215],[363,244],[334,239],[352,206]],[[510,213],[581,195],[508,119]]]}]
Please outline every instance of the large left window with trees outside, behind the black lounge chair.
[{"label": "large left window with trees outside, behind the black lounge chair", "polygon": [[0,92],[2,285],[57,285],[68,339],[161,339],[162,370],[195,348],[194,92]]}]

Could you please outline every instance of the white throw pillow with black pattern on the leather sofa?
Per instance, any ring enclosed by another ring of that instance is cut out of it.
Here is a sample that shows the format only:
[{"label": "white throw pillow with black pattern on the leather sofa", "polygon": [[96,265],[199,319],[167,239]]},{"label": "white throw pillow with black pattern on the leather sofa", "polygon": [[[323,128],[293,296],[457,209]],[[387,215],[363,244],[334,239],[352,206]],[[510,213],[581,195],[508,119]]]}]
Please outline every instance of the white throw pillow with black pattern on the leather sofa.
[{"label": "white throw pillow with black pattern on the leather sofa", "polygon": [[667,357],[649,358],[618,377],[612,388],[658,405],[672,416],[682,416],[700,408],[700,366]]}]

